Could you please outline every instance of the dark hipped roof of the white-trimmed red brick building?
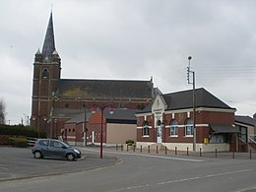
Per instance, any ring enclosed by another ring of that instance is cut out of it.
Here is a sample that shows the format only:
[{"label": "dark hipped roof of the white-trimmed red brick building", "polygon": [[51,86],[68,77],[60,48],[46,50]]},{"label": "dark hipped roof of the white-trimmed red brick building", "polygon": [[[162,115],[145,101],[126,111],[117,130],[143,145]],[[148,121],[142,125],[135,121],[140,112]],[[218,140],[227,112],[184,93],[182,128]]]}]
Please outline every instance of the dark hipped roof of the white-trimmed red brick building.
[{"label": "dark hipped roof of the white-trimmed red brick building", "polygon": [[[203,88],[196,89],[196,107],[234,109]],[[193,90],[163,95],[168,110],[192,108]]]}]

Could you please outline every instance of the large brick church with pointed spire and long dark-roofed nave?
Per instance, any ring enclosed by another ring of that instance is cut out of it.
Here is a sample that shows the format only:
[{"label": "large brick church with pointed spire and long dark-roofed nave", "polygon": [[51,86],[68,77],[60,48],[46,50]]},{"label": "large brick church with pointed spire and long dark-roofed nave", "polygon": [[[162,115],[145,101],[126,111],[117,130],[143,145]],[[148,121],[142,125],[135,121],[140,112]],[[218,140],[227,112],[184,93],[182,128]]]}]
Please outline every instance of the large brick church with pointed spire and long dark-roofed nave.
[{"label": "large brick church with pointed spire and long dark-roofed nave", "polygon": [[144,109],[158,92],[152,78],[147,81],[62,79],[50,13],[42,49],[34,55],[32,127],[46,132],[47,137],[57,138],[65,121],[92,105]]}]

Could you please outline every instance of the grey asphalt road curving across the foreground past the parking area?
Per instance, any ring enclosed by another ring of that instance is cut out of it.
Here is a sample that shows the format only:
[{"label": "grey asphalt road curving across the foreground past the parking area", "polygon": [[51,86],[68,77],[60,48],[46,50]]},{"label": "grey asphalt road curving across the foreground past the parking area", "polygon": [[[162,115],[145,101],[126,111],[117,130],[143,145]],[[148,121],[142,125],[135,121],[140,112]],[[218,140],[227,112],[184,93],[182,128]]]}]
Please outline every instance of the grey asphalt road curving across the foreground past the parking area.
[{"label": "grey asphalt road curving across the foreground past the parking area", "polygon": [[[87,153],[98,155],[90,149]],[[2,181],[0,191],[256,191],[256,160],[104,151],[107,157],[117,157],[119,162],[73,173]]]}]

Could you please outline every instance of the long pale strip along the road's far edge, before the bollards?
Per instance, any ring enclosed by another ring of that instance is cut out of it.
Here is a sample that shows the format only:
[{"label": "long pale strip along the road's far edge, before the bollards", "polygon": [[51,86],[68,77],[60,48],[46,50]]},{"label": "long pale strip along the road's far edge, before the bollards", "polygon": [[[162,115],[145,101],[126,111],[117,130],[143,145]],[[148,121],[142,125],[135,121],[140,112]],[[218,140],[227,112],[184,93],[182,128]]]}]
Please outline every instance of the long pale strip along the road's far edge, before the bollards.
[{"label": "long pale strip along the road's far edge, before the bollards", "polygon": [[[97,152],[96,150],[88,150],[91,152]],[[141,157],[147,157],[147,158],[158,158],[158,159],[165,159],[165,160],[184,160],[184,161],[193,161],[193,162],[203,162],[205,160],[194,160],[194,159],[183,159],[183,158],[173,158],[173,157],[165,157],[165,156],[153,156],[153,155],[146,155],[146,154],[125,154],[125,153],[118,153],[118,152],[107,152],[104,151],[106,154],[115,154],[115,155],[125,155],[125,156],[141,156]]]}]

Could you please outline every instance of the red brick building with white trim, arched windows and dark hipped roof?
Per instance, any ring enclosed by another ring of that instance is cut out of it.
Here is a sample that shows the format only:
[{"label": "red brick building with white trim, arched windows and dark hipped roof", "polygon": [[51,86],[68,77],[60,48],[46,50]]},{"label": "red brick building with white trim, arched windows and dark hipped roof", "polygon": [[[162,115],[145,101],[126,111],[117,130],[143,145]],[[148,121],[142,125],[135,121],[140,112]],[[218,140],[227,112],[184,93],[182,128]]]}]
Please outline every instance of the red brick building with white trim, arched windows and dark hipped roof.
[{"label": "red brick building with white trim, arched windows and dark hipped roof", "polygon": [[[234,112],[221,99],[203,88],[159,95],[137,116],[137,148],[160,144],[169,150],[197,152],[238,151]],[[194,142],[193,116],[196,140]]]}]

